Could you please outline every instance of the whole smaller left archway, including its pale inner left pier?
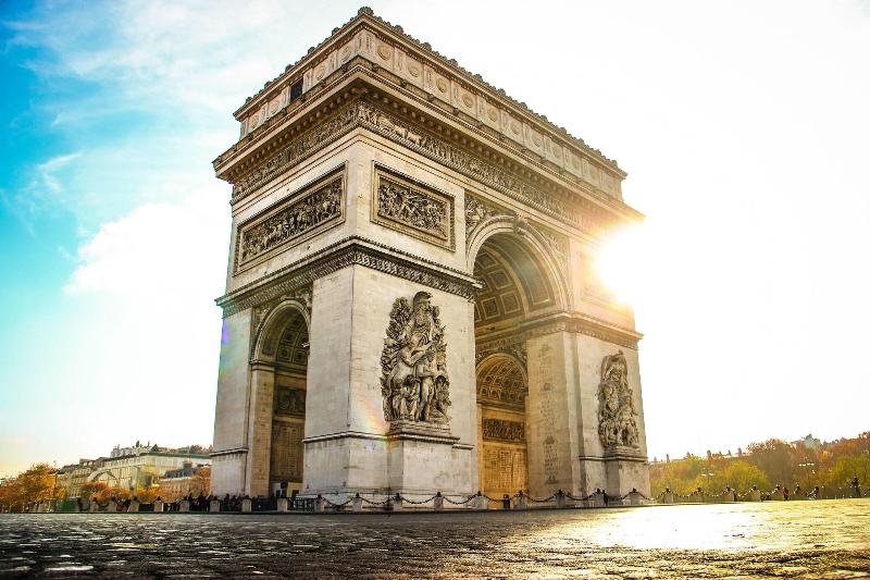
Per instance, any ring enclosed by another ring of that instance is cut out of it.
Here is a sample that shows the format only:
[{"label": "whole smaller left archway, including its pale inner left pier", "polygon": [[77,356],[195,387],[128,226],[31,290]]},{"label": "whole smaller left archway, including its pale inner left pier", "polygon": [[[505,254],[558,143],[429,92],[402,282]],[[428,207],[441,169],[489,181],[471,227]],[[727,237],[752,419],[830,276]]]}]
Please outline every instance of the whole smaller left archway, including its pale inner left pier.
[{"label": "whole smaller left archway, including its pale inner left pier", "polygon": [[302,489],[310,320],[301,300],[287,299],[263,317],[251,357],[253,440],[268,453],[252,454],[254,495]]}]

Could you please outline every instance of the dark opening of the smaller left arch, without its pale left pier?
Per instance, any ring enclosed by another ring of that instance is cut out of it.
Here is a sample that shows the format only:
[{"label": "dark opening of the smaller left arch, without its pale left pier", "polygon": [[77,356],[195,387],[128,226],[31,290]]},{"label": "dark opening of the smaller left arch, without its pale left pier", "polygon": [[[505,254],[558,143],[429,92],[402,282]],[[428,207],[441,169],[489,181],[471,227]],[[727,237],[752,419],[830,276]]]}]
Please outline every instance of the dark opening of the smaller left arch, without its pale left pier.
[{"label": "dark opening of the smaller left arch, without its pale left pier", "polygon": [[302,489],[306,394],[308,390],[309,321],[295,300],[275,307],[259,333],[254,367],[271,383],[269,490],[296,495]]}]

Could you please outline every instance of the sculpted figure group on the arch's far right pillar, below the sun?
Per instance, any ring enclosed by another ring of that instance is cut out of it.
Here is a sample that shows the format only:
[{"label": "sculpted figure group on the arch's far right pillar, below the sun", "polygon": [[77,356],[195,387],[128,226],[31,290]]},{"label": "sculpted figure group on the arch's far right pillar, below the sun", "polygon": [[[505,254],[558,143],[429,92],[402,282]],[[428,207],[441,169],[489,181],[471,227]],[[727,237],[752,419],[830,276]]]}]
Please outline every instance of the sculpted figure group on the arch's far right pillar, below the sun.
[{"label": "sculpted figure group on the arch's far right pillar, below the sun", "polygon": [[639,446],[639,435],[629,367],[622,350],[601,361],[601,382],[598,385],[598,436],[605,447]]}]

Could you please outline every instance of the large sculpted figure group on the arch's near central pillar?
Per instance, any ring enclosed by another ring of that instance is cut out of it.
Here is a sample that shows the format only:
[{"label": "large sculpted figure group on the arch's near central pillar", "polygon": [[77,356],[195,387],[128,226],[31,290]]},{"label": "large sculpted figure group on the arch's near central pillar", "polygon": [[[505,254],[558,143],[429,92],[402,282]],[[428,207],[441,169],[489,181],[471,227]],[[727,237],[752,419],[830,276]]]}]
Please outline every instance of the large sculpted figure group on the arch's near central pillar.
[{"label": "large sculpted figure group on the arch's near central pillar", "polygon": [[412,300],[393,303],[381,354],[381,394],[387,421],[445,424],[450,418],[447,343],[432,295],[418,292]]}]

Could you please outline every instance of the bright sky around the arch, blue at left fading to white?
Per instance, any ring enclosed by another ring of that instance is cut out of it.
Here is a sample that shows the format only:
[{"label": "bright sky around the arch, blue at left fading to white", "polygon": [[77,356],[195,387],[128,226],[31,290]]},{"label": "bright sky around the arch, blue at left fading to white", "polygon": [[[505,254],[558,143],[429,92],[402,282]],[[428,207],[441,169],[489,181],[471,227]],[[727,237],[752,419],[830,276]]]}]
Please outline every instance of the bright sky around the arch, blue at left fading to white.
[{"label": "bright sky around the arch, blue at left fading to white", "polygon": [[[650,458],[870,429],[870,3],[372,1],[619,161]],[[358,2],[0,7],[0,474],[209,443],[232,111]]]}]

